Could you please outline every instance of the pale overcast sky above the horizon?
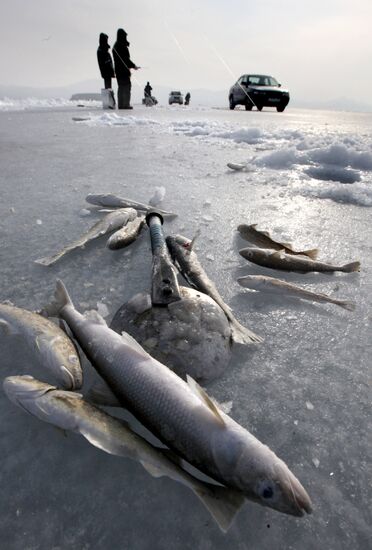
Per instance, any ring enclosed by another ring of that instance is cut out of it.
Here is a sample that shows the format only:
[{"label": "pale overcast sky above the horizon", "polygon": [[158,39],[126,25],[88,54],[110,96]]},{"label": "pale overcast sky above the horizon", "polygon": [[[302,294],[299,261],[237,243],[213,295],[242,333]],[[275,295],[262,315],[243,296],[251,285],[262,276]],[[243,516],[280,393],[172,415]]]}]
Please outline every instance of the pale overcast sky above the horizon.
[{"label": "pale overcast sky above the horizon", "polygon": [[0,85],[60,87],[100,77],[100,32],[128,33],[147,80],[228,90],[270,74],[303,100],[372,104],[371,0],[12,0],[0,5]]}]

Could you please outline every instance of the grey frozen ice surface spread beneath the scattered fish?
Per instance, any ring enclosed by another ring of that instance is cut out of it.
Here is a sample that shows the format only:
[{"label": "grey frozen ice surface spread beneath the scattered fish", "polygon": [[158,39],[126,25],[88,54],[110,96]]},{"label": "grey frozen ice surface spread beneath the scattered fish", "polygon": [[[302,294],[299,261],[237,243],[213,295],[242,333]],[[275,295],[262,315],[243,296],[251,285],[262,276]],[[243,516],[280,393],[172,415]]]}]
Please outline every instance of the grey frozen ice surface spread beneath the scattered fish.
[{"label": "grey frozen ice surface spread beneath the scattered fish", "polygon": [[[94,124],[73,122],[79,114],[71,105],[0,113],[0,298],[38,308],[50,301],[61,278],[78,309],[102,302],[110,321],[131,296],[149,292],[146,236],[123,252],[107,249],[103,238],[50,268],[33,262],[102,216],[81,216],[88,193],[147,202],[156,186],[165,186],[162,207],[178,213],[165,222],[165,234],[192,238],[203,216],[210,216],[197,240],[199,260],[239,321],[265,342],[235,348],[226,373],[208,391],[219,403],[233,402],[233,418],[286,461],[311,495],[314,512],[296,519],[247,501],[223,535],[186,488],[154,479],[140,465],[110,457],[77,436],[65,437],[2,393],[2,547],[368,548],[372,115],[191,106],[154,107],[150,119],[149,109],[135,106],[129,124],[108,124],[105,113],[92,107],[87,116]],[[128,118],[118,112],[109,120],[119,117]],[[188,135],[195,128],[206,132]],[[251,161],[277,152],[283,159],[278,168]],[[292,164],[284,162],[290,154]],[[228,162],[249,162],[253,171],[232,172]],[[326,166],[354,170],[360,181],[317,180],[304,172]],[[356,311],[245,292],[237,277],[277,273],[239,257],[245,245],[236,231],[240,223],[259,223],[296,246],[318,246],[322,260],[359,259],[360,273],[280,274],[354,300]],[[1,334],[0,352],[4,378],[31,374],[48,381],[18,339]]]}]

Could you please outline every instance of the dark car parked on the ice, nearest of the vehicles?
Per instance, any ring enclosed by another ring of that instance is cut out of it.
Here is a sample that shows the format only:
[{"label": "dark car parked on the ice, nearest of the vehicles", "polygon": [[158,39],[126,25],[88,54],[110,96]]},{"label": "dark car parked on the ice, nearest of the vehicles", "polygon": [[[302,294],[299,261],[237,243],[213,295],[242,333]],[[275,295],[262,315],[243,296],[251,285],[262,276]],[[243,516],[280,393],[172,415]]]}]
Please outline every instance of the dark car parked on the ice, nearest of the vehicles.
[{"label": "dark car parked on the ice, nearest of the vehicles", "polygon": [[244,105],[246,111],[257,107],[276,107],[282,113],[289,103],[289,91],[281,88],[281,84],[272,76],[263,74],[244,74],[230,88],[229,106]]}]

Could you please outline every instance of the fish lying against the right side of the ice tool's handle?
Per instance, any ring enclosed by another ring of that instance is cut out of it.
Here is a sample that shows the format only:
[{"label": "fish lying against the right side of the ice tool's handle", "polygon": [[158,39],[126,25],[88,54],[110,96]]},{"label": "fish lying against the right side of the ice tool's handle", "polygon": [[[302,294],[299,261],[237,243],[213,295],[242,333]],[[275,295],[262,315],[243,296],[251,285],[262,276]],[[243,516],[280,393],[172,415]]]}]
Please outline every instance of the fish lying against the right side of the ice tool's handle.
[{"label": "fish lying against the right side of the ice tool's handle", "polygon": [[231,309],[225,304],[217,288],[200,265],[195,252],[192,250],[193,242],[182,235],[168,236],[166,238],[170,255],[173,261],[178,264],[182,275],[192,287],[210,296],[221,307],[230,323],[231,336],[234,342],[239,344],[263,342],[263,338],[254,334],[248,328],[243,327],[235,319]]}]

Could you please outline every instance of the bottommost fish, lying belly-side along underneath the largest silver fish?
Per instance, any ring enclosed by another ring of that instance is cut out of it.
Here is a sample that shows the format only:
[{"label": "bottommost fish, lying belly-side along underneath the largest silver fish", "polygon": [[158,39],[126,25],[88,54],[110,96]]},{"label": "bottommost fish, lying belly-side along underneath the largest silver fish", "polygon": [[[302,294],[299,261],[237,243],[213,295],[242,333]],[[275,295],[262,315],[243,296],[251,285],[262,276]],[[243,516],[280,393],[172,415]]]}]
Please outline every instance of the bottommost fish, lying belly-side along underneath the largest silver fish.
[{"label": "bottommost fish, lying belly-side along underneath the largest silver fish", "polygon": [[122,420],[87,403],[80,394],[61,391],[31,376],[9,376],[3,382],[8,398],[62,430],[81,434],[106,453],[140,462],[154,477],[167,476],[191,489],[227,531],[244,502],[238,491],[206,483],[183,470],[167,457],[167,451],[148,443]]}]

